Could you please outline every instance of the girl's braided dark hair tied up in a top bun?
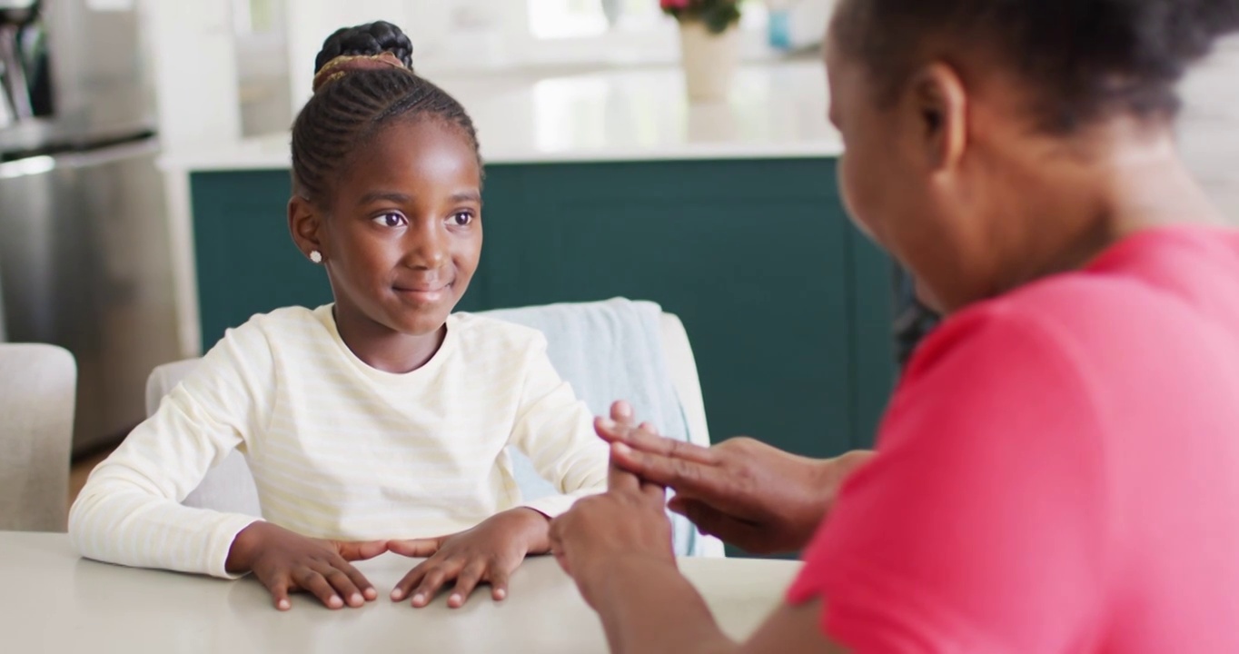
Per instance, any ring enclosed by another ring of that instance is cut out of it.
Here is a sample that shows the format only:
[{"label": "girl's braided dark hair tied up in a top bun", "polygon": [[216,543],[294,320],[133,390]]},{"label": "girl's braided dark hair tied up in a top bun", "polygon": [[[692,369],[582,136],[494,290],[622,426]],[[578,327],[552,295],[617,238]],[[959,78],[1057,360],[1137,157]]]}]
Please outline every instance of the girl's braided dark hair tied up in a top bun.
[{"label": "girl's braided dark hair tied up in a top bun", "polygon": [[315,94],[292,124],[294,193],[327,207],[332,181],[398,118],[441,120],[482,155],[465,108],[413,71],[413,43],[390,22],[344,27],[315,59]]}]

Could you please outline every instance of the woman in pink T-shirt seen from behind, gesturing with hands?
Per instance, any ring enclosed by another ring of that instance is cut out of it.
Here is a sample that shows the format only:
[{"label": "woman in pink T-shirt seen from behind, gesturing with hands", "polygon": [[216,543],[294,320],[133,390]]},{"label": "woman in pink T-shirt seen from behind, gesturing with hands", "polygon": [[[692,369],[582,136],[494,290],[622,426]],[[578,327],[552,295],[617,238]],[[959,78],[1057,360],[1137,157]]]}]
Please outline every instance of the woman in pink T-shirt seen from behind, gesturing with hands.
[{"label": "woman in pink T-shirt seen from behind, gesturing with hands", "polygon": [[[1176,82],[1237,14],[840,1],[849,211],[948,320],[869,461],[600,420],[610,490],[551,539],[615,652],[1239,652],[1239,234],[1211,224],[1172,126]],[[808,545],[750,643],[676,572],[664,486],[706,531]]]}]

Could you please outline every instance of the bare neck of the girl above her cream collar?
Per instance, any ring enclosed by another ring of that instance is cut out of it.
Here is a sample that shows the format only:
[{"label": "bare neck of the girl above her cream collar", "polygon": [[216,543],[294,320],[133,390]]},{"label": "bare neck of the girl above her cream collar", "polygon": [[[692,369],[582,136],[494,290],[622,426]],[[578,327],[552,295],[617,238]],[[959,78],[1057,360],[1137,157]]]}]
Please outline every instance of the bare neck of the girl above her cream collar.
[{"label": "bare neck of the girl above her cream collar", "polygon": [[344,346],[366,365],[384,373],[404,374],[421,368],[435,357],[447,336],[446,325],[429,334],[400,333],[339,301],[332,317]]}]

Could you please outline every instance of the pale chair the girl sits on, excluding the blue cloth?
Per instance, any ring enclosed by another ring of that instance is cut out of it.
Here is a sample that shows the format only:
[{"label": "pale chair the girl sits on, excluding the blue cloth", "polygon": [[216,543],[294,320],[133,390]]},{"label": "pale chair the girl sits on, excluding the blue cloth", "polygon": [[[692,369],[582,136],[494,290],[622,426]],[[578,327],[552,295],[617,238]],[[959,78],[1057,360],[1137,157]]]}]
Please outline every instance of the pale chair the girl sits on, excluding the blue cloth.
[{"label": "pale chair the girl sits on, excluding the blue cloth", "polygon": [[[705,403],[701,398],[701,384],[698,379],[696,360],[689,343],[688,332],[679,317],[663,313],[659,320],[663,352],[667,359],[672,384],[679,396],[688,427],[689,440],[694,443],[710,446],[709,427],[705,417]],[[554,348],[554,344],[550,347]],[[160,365],[151,372],[146,381],[146,414],[152,415],[160,401],[183,379],[198,359],[186,359]],[[532,467],[522,461],[523,455],[513,453],[520,482],[522,469]],[[529,494],[528,492],[525,493]],[[249,472],[245,457],[232,452],[224,461],[207,472],[198,488],[190,493],[182,504],[187,507],[209,508],[245,515],[261,515],[258,500],[258,488]],[[715,538],[700,538],[698,552],[703,556],[724,556],[722,543]]]}]

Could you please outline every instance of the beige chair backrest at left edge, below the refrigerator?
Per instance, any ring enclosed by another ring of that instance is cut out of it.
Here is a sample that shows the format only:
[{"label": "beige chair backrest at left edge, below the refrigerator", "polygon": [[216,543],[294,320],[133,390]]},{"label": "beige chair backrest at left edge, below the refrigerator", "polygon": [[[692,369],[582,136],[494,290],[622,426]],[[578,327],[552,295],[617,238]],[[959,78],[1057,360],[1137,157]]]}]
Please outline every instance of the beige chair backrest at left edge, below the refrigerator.
[{"label": "beige chair backrest at left edge, below the refrigerator", "polygon": [[68,351],[0,343],[0,530],[64,531],[76,400]]}]

